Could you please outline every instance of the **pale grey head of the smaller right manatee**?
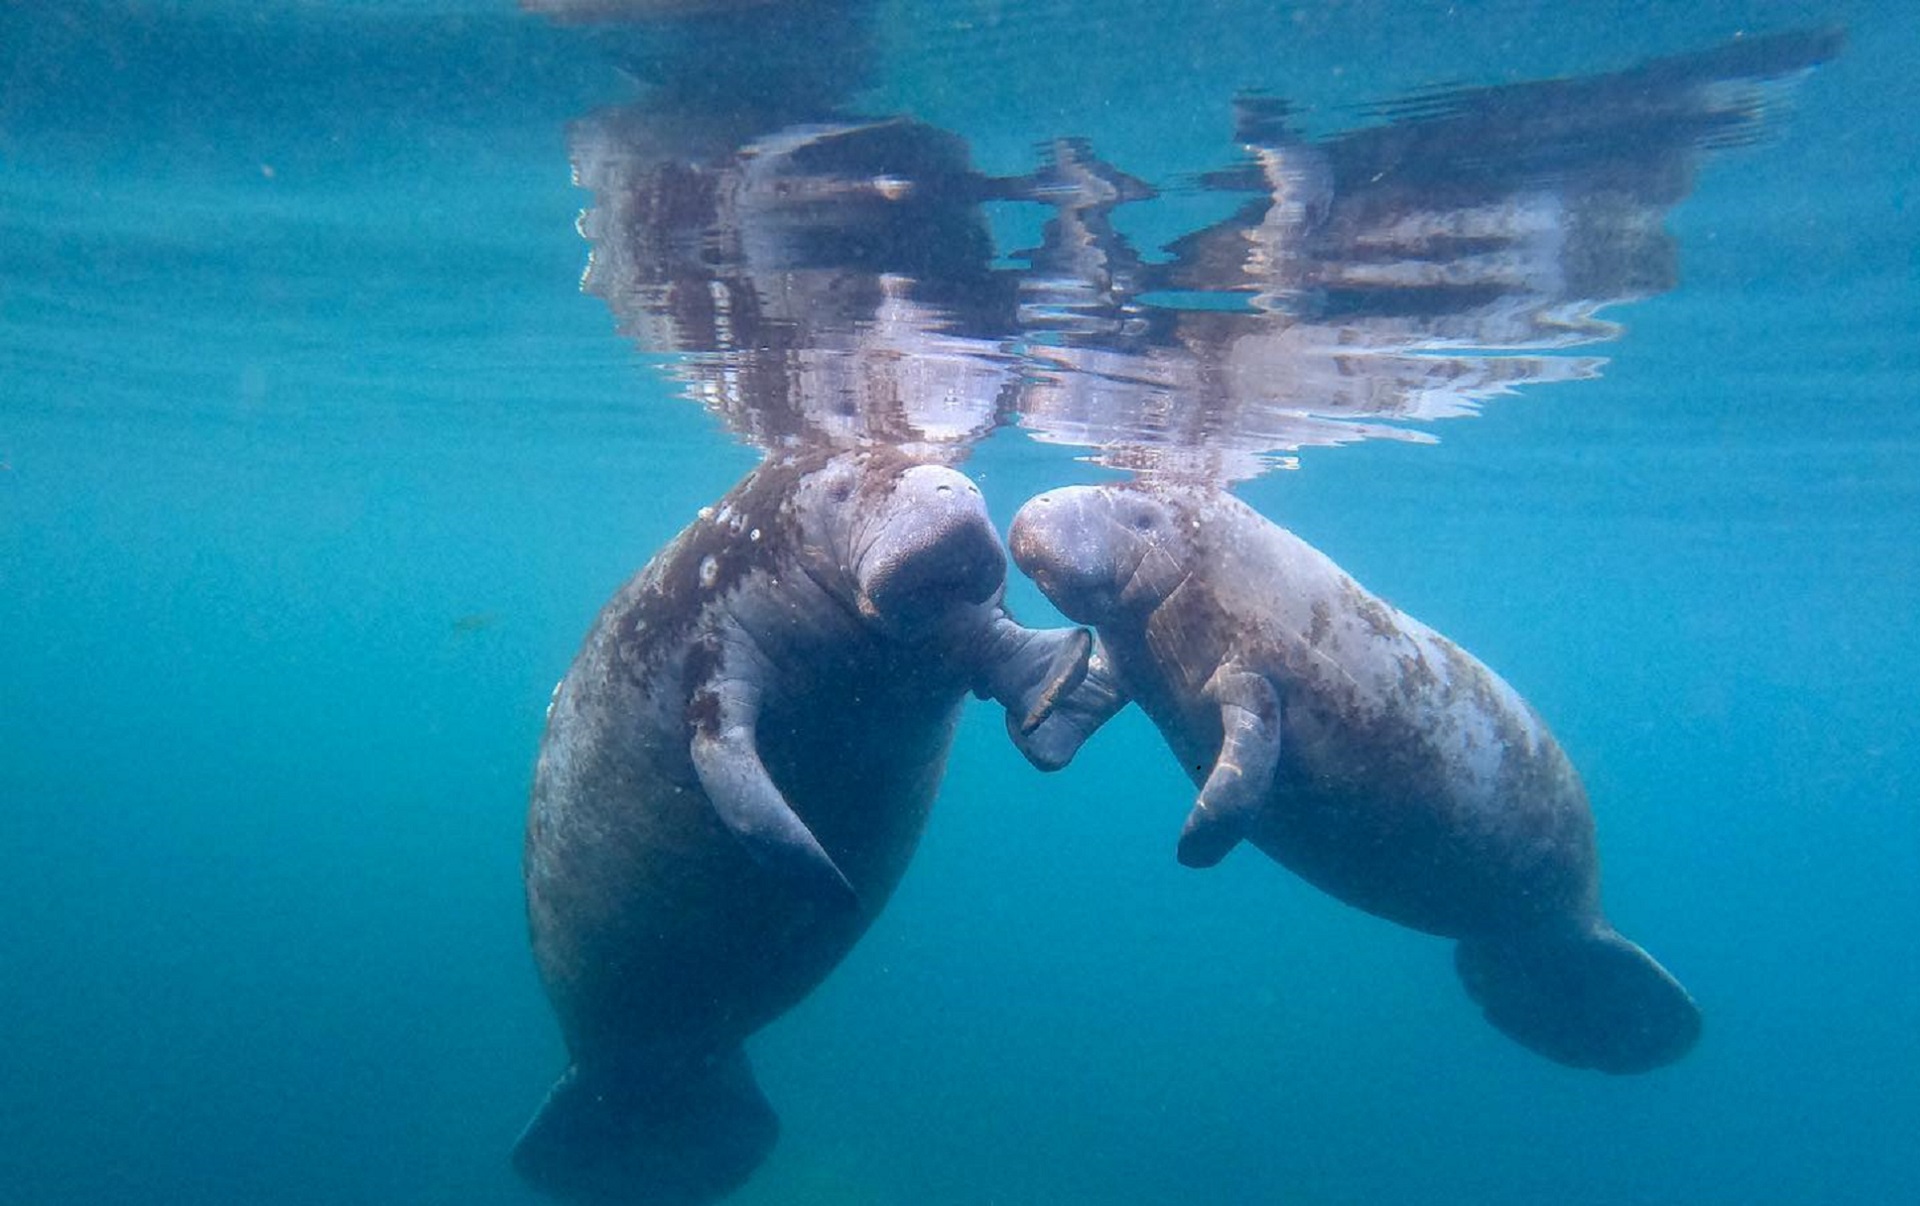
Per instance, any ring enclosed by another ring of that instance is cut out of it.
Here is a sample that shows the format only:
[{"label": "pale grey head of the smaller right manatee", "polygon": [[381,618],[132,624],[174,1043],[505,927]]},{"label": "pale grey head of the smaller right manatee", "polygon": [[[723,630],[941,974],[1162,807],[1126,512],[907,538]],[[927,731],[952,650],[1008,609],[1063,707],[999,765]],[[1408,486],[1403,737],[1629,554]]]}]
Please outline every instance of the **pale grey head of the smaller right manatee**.
[{"label": "pale grey head of the smaller right manatee", "polygon": [[1123,486],[1068,486],[1027,499],[1008,545],[1064,616],[1092,626],[1150,613],[1190,563],[1183,513]]}]

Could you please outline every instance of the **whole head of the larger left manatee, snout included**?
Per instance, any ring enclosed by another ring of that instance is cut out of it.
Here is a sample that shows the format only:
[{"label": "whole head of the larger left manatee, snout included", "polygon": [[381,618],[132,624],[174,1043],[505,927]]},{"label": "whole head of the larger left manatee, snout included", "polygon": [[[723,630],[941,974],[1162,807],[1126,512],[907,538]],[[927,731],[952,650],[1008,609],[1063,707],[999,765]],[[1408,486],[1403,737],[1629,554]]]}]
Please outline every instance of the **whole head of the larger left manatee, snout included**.
[{"label": "whole head of the larger left manatee, snout included", "polygon": [[874,457],[833,495],[851,601],[883,632],[933,636],[941,620],[995,601],[1006,584],[1006,553],[966,474]]}]

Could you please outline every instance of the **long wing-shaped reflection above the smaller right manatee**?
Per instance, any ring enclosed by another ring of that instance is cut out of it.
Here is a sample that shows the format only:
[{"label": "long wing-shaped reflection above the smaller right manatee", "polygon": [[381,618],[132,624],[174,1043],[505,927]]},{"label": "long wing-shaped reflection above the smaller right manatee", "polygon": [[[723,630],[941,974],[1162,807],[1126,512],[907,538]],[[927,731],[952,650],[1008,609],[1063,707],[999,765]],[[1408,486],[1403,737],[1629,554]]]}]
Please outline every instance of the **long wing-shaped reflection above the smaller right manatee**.
[{"label": "long wing-shaped reflection above the smaller right manatee", "polygon": [[1601,311],[1674,288],[1665,219],[1699,161],[1764,138],[1839,42],[1745,36],[1428,92],[1325,138],[1277,98],[1242,98],[1244,157],[1202,184],[1248,200],[1164,263],[1106,221],[1150,188],[1035,196],[1100,221],[1058,221],[1021,253],[1023,290],[1073,305],[1021,311],[1020,422],[1142,476],[1231,482],[1300,447],[1432,442],[1427,424],[1492,398],[1597,376],[1601,357],[1567,350],[1619,338]]}]

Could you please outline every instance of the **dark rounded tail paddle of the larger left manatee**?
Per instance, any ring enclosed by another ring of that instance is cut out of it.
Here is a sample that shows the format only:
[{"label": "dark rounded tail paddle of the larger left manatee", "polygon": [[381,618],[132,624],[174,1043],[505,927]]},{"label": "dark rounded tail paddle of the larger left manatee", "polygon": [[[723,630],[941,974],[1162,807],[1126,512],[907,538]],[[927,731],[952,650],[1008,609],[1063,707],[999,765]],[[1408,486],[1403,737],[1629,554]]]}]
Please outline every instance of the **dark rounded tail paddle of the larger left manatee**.
[{"label": "dark rounded tail paddle of the larger left manatee", "polygon": [[701,1206],[739,1189],[778,1135],[735,1047],[666,1083],[568,1068],[515,1143],[513,1166],[566,1202]]}]

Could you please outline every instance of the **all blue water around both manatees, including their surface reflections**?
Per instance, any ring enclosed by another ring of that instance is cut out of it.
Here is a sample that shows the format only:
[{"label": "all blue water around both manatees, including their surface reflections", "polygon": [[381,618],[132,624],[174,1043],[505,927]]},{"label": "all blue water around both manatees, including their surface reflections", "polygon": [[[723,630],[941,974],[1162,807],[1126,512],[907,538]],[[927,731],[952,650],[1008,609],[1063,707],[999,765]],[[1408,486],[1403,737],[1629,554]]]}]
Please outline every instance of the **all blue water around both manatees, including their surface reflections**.
[{"label": "all blue water around both manatees, including their surface reflections", "polygon": [[776,19],[0,6],[0,1202],[538,1200],[549,691],[860,442],[1002,532],[1231,486],[1475,651],[1705,1033],[1549,1064],[1446,943],[1181,868],[1140,714],[1041,776],[973,705],[730,1200],[1920,1194],[1920,21]]}]

